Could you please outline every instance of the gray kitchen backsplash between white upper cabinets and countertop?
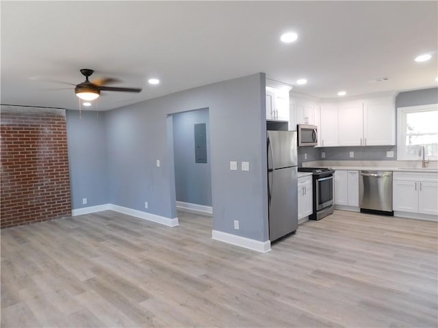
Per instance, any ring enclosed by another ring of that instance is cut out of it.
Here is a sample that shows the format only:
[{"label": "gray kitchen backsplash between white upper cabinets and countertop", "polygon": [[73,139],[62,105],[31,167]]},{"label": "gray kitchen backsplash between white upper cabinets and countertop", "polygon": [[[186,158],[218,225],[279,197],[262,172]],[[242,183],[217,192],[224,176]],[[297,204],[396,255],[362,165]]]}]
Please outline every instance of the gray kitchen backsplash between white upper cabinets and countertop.
[{"label": "gray kitchen backsplash between white upper cabinets and countertop", "polygon": [[[350,157],[352,152],[353,157]],[[387,157],[387,152],[394,152],[393,157]],[[325,157],[322,157],[324,153]],[[298,147],[298,167],[310,161],[395,161],[396,146],[366,146],[366,147]]]}]

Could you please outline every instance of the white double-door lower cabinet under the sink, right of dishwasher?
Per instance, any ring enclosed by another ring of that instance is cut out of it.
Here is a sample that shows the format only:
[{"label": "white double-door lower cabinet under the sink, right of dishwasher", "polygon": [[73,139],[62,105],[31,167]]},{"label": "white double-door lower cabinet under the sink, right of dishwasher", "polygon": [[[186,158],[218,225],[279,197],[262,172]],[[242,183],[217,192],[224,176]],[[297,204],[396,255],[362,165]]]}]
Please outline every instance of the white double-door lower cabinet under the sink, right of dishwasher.
[{"label": "white double-door lower cabinet under the sink, right of dishwasher", "polygon": [[[392,178],[394,211],[438,215],[437,177],[438,175],[433,173],[394,172]],[[409,215],[403,216],[409,217]]]}]

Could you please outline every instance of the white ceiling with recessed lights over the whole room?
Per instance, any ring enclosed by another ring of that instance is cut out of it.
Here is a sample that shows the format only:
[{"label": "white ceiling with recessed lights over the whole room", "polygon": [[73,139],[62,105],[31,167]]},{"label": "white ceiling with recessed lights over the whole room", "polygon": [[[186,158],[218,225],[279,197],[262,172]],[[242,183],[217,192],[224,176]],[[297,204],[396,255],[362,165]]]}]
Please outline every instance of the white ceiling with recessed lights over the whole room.
[{"label": "white ceiling with recessed lights over the whole room", "polygon": [[[78,108],[80,68],[140,94],[99,110],[266,72],[318,98],[437,86],[437,1],[1,1],[1,103]],[[296,31],[294,44],[279,41]],[[430,61],[413,59],[422,53]],[[157,77],[160,85],[149,85]],[[389,81],[370,83],[379,77]],[[70,87],[69,90],[52,90]],[[93,105],[96,106],[96,105]],[[94,108],[95,109],[95,108]]]}]

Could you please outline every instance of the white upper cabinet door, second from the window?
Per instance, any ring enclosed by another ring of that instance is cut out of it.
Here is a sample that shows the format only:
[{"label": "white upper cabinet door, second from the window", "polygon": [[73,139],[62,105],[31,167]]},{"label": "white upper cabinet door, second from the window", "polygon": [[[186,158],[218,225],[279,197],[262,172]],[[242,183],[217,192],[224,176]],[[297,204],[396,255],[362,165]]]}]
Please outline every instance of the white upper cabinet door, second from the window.
[{"label": "white upper cabinet door, second from the window", "polygon": [[338,107],[339,146],[363,146],[363,103],[341,102]]}]

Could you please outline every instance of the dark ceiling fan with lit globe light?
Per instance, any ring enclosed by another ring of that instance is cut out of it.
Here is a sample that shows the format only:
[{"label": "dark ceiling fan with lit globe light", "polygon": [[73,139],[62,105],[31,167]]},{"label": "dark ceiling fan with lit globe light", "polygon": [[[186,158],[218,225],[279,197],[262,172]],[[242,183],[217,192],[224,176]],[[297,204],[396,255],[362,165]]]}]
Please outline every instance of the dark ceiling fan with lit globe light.
[{"label": "dark ceiling fan with lit globe light", "polygon": [[107,87],[105,84],[118,82],[118,79],[103,78],[90,82],[88,77],[93,74],[94,70],[88,68],[81,69],[85,81],[75,86],[75,94],[82,100],[94,100],[99,97],[101,91],[119,91],[119,92],[141,92],[137,87]]}]

